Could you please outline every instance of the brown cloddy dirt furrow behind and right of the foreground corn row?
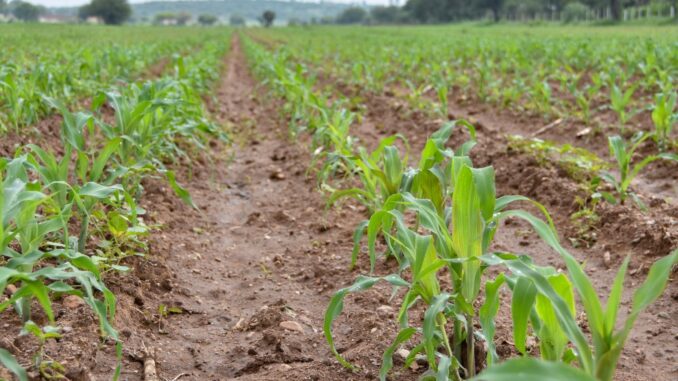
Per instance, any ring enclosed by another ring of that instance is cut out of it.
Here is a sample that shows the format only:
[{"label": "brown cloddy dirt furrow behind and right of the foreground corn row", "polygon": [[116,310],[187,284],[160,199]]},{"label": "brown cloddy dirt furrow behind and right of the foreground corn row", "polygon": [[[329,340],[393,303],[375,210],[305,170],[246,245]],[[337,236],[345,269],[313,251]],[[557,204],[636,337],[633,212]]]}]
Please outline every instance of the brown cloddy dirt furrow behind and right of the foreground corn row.
[{"label": "brown cloddy dirt furrow behind and right of the foreground corn row", "polygon": [[[320,82],[324,83],[322,79]],[[440,120],[408,110],[392,96],[366,95],[360,89],[341,84],[337,89],[349,99],[360,97],[364,101],[364,118],[352,129],[352,133],[367,147],[374,148],[380,138],[400,133],[414,147],[410,157],[416,162],[427,136],[442,124]],[[477,116],[464,113],[461,108],[456,108],[453,114],[462,119]],[[671,212],[671,206],[660,203],[648,216],[634,208],[604,205],[600,212],[602,220],[593,230],[595,242],[591,242],[591,247],[581,246],[582,242],[575,246],[572,242],[578,236],[577,226],[570,216],[577,210],[574,202],[577,196],[584,194],[583,190],[557,168],[544,167],[530,155],[508,149],[504,136],[507,130],[501,119],[483,117],[475,121],[478,145],[472,157],[477,165],[495,167],[498,195],[521,194],[544,204],[556,221],[563,243],[577,258],[587,263],[587,273],[601,294],[609,291],[616,269],[625,256],[631,255],[631,268],[634,270],[627,279],[624,292],[625,303],[628,303],[649,265],[676,247],[678,230],[673,221],[678,216]],[[467,139],[462,131],[460,127],[453,135],[453,147]],[[564,269],[562,260],[553,250],[520,221],[507,221],[499,229],[495,242],[498,242],[497,250],[529,254],[537,263]],[[618,380],[669,380],[675,375],[676,369],[667,369],[664,364],[678,359],[675,342],[678,331],[672,327],[675,324],[671,324],[678,321],[677,295],[678,284],[674,281],[660,300],[641,315],[622,355]],[[510,311],[504,309],[498,319],[497,342],[500,346],[503,343],[511,348]]]}]

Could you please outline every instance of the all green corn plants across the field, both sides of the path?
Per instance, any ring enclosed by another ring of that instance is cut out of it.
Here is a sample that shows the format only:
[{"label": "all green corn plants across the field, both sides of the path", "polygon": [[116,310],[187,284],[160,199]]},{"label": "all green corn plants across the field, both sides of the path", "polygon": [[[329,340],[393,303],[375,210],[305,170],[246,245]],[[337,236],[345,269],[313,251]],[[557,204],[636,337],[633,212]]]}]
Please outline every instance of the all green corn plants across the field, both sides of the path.
[{"label": "all green corn plants across the field, both sides of the path", "polygon": [[[510,4],[484,1],[480,8],[500,18]],[[569,4],[559,7],[576,20],[581,6]],[[367,17],[349,9],[346,23]],[[165,16],[158,21],[169,20]],[[387,283],[390,296],[401,299],[381,380],[391,375],[394,353],[405,344],[412,349],[404,366],[417,357],[428,365],[422,379],[512,380],[520,374],[613,380],[629,334],[661,296],[678,250],[659,253],[663,257],[644,282],[632,282],[629,311],[621,313],[631,257],[621,263],[609,293],[599,293],[584,265],[561,244],[540,195],[501,195],[492,162],[477,166],[476,155],[489,137],[539,163],[555,163],[586,189],[582,215],[594,215],[598,201],[624,203],[628,197],[646,209],[632,181],[656,160],[678,161],[672,151],[678,32],[470,24],[278,29],[268,28],[274,11],[260,16],[266,28],[241,33],[248,63],[282,100],[289,137],[307,142],[309,172],[328,207],[353,202],[365,211],[346,253],[359,275],[336,291],[324,316],[336,360],[358,370],[338,349],[343,338],[333,331],[347,297]],[[179,23],[180,13],[172,17]],[[214,22],[203,17],[203,24]],[[0,158],[0,295],[8,295],[0,312],[18,315],[23,333],[39,342],[32,367],[56,379],[64,368],[43,353],[45,343],[61,335],[53,303],[82,299],[98,317],[100,336],[115,343],[117,379],[123,343],[113,326],[116,296],[105,275],[127,271],[125,258],[146,249],[151,228],[140,206],[145,180],[162,179],[195,206],[171,164],[190,161],[210,140],[227,139],[204,97],[220,77],[231,31],[80,26],[35,27],[27,35],[25,28],[0,26],[7,32],[0,37],[7,47],[0,52],[0,133],[23,141],[31,127],[58,115],[59,141],[19,144]],[[66,39],[71,42],[60,50],[46,49]],[[435,118],[439,128],[416,142],[423,147],[418,152],[405,131],[364,142],[353,130],[363,117],[360,100],[334,83],[360,95],[388,93],[405,101],[410,113]],[[575,144],[484,134],[486,126],[450,120],[448,112],[458,104],[503,109],[526,116],[527,123],[568,119],[589,131],[582,136],[595,128],[611,135],[606,140],[613,160]],[[501,233],[513,220],[529,226],[541,250],[557,254],[560,269],[498,249],[506,247]],[[381,260],[391,261],[386,274],[377,274]],[[510,311],[517,358],[497,353],[502,308]],[[36,309],[45,324],[33,320]],[[158,324],[177,311],[161,304]],[[528,350],[530,336],[538,351]],[[481,347],[484,352],[477,351]],[[2,348],[0,363],[27,378]]]}]

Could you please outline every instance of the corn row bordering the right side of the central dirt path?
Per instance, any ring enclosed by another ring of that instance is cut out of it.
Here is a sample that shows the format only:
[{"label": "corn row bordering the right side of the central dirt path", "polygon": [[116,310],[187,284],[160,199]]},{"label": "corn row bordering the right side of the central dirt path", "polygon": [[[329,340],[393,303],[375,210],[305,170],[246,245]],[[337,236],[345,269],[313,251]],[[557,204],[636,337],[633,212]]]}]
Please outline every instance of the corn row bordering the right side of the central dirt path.
[{"label": "corn row bordering the right side of the central dirt path", "polygon": [[[678,250],[651,267],[634,292],[630,313],[619,316],[630,258],[619,268],[603,304],[583,266],[560,244],[547,210],[523,196],[498,197],[494,169],[473,165],[469,157],[475,145],[472,125],[464,121],[443,125],[429,137],[414,165],[409,164],[409,148],[399,135],[382,139],[368,152],[350,135],[356,115],[343,108],[342,101],[330,101],[315,91],[313,77],[289,51],[269,52],[249,40],[244,45],[257,75],[285,100],[292,135],[305,132],[312,136],[319,182],[331,192],[328,202],[349,197],[369,211],[369,218],[356,228],[351,263],[356,264],[366,236],[370,271],[337,291],[325,315],[325,336],[342,365],[358,369],[336,350],[332,333],[345,297],[385,282],[400,291],[402,302],[397,314],[400,330],[383,355],[382,380],[393,368],[393,354],[406,343],[412,349],[405,367],[420,355],[428,362],[422,379],[513,380],[517,375],[549,380],[613,379],[636,319],[661,295],[678,263]],[[450,137],[460,128],[469,140],[449,148]],[[358,186],[343,187],[356,182]],[[532,205],[539,216],[509,208],[516,203]],[[494,237],[507,218],[526,221],[560,255],[567,272],[539,266],[527,255],[494,251]],[[385,243],[382,253],[377,252],[379,242]],[[394,258],[397,270],[375,276],[380,257]],[[489,275],[491,268],[499,275]],[[446,276],[449,282],[442,282]],[[513,341],[521,354],[515,359],[501,359],[494,345],[502,289],[511,295]],[[424,310],[421,320],[411,316],[413,309]],[[590,337],[577,320],[580,313],[586,316]],[[530,332],[539,343],[537,356],[527,348]],[[482,343],[487,356],[478,359],[476,347]]]}]

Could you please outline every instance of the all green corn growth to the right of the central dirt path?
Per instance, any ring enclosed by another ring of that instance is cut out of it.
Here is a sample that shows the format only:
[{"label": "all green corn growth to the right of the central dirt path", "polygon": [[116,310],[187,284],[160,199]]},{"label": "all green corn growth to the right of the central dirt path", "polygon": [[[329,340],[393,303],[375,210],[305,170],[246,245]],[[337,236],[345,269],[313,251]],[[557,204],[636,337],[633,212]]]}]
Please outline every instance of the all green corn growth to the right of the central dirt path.
[{"label": "all green corn growth to the right of the central dirt path", "polygon": [[[405,88],[409,89],[405,97],[419,93],[416,99],[429,102],[473,99],[551,120],[580,115],[578,122],[584,126],[611,110],[617,115],[615,122],[607,125],[600,119],[601,128],[623,132],[639,114],[633,110],[650,109],[658,102],[653,120],[663,131],[674,106],[670,100],[658,100],[663,95],[657,94],[672,86],[671,78],[678,71],[672,40],[653,36],[656,30],[635,30],[640,36],[615,38],[611,34],[619,30],[602,30],[595,38],[586,29],[573,29],[572,36],[565,38],[562,29],[524,27],[318,30],[323,33],[277,31],[275,38],[284,44],[272,52],[251,40],[246,41],[246,50],[261,79],[285,100],[291,135],[312,136],[310,148],[315,162],[320,162],[318,181],[330,193],[329,204],[350,197],[365,205],[369,216],[356,228],[351,263],[356,265],[360,243],[367,236],[370,271],[338,290],[325,315],[324,333],[337,360],[357,370],[337,350],[332,330],[345,298],[386,282],[395,289],[393,295],[403,296],[395,319],[399,332],[384,351],[382,380],[393,367],[395,351],[412,342],[404,366],[424,354],[428,362],[424,379],[510,380],[521,374],[534,379],[611,381],[638,315],[661,295],[678,264],[678,250],[652,265],[645,282],[635,289],[630,313],[622,317],[621,295],[630,258],[621,264],[603,306],[583,265],[559,242],[546,209],[523,196],[497,197],[493,167],[473,165],[469,156],[475,145],[473,126],[463,121],[445,124],[430,135],[418,165],[409,166],[410,148],[398,135],[383,138],[371,152],[361,147],[350,132],[352,121],[359,119],[345,108],[350,101],[341,95],[334,99],[336,94],[330,98],[317,89],[313,78],[329,76],[367,94]],[[272,38],[262,30],[252,34],[262,40]],[[435,93],[425,95],[429,90],[419,89],[435,89]],[[669,104],[668,111],[662,109],[667,107],[664,103]],[[452,149],[447,142],[455,125],[465,126],[469,139]],[[630,149],[622,138],[610,138],[622,173],[618,182],[622,185],[616,186],[620,197],[642,167],[673,157],[651,155],[631,169],[633,152],[654,135],[640,136]],[[608,167],[596,155],[572,146],[520,138],[514,138],[513,144],[542,160],[555,158],[583,183],[594,182]],[[603,174],[616,182],[612,175]],[[513,203],[531,205],[539,217],[509,208]],[[537,265],[518,253],[493,251],[500,222],[507,218],[527,222],[559,254],[566,271]],[[397,262],[397,270],[389,275],[374,274],[380,257],[378,242],[385,244],[381,256]],[[449,282],[441,281],[445,276]],[[502,288],[509,291],[508,301],[500,301]],[[495,317],[501,303],[510,305],[513,342],[521,358],[502,360],[496,353]],[[411,315],[415,309],[423,310],[423,315]],[[588,322],[590,337],[580,326],[580,314]],[[528,332],[539,344],[537,355],[527,351]],[[486,369],[476,375],[478,340],[488,350]]]}]

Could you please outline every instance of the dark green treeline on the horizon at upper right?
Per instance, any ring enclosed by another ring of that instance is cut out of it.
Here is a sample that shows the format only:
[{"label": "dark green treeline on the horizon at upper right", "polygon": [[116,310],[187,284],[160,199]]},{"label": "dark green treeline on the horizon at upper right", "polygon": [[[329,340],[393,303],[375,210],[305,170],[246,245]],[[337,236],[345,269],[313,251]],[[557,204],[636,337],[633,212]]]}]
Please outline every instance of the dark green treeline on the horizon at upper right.
[{"label": "dark green treeline on the horizon at upper right", "polygon": [[446,23],[500,20],[626,20],[676,17],[678,0],[407,0],[403,7],[352,7],[322,23]]}]

